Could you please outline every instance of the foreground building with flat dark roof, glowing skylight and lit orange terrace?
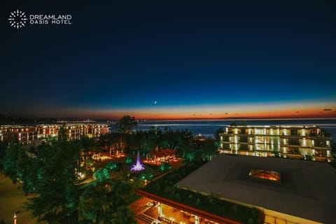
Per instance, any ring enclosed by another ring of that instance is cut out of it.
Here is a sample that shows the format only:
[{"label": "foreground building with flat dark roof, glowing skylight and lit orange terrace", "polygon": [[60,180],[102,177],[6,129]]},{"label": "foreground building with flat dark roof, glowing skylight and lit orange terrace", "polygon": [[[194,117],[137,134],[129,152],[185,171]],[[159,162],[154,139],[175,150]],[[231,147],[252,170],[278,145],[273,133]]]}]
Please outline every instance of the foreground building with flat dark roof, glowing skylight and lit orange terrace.
[{"label": "foreground building with flat dark roof, glowing skylight and lit orange terrace", "polygon": [[[136,190],[142,196],[131,205],[137,219],[174,224],[317,224],[335,223],[336,219],[336,169],[328,162],[221,154],[174,186],[186,190],[178,191],[183,200]],[[214,195],[223,203],[216,201],[218,207],[213,210],[197,207],[197,194],[204,195],[201,205]],[[223,206],[225,203],[232,205]],[[244,207],[257,211],[258,218],[242,222],[230,219],[225,211],[235,210],[235,205],[239,217],[246,216]],[[224,211],[223,216],[219,210]]]}]

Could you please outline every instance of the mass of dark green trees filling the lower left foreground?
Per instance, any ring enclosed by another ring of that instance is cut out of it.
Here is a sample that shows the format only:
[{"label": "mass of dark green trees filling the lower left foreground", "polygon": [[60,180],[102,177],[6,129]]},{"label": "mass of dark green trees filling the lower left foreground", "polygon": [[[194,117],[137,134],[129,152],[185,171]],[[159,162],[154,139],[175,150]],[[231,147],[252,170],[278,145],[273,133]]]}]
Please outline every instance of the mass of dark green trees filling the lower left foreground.
[{"label": "mass of dark green trees filling the lower left foreground", "polygon": [[[22,190],[31,193],[27,208],[38,221],[117,224],[127,220],[127,223],[134,223],[132,212],[120,208],[132,195],[133,187],[129,182],[111,181],[106,169],[98,169],[94,173],[97,179],[90,184],[80,179],[83,167],[79,161],[83,151],[88,150],[85,147],[90,146],[87,139],[67,141],[65,130],[60,130],[57,140],[40,144],[36,154],[13,141],[1,160],[2,171],[13,183],[18,182]],[[102,193],[106,193],[104,197]],[[87,203],[90,200],[92,203]],[[91,212],[90,216],[86,216],[87,211]]]}]

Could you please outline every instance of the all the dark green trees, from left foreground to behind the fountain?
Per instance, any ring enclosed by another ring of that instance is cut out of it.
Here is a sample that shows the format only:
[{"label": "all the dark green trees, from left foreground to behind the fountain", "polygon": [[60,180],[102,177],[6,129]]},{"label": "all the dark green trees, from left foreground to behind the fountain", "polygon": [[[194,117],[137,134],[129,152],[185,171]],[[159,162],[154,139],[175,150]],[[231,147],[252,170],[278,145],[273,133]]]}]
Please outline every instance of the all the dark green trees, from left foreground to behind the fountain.
[{"label": "all the dark green trees, from left foreground to behind the fountain", "polygon": [[[194,139],[193,133],[188,130],[152,127],[148,132],[133,132],[136,125],[134,118],[125,116],[117,123],[116,132],[97,139],[81,137],[77,141],[68,141],[66,129],[62,127],[57,139],[48,139],[33,148],[22,146],[17,140],[10,144],[1,142],[1,170],[13,183],[18,182],[22,190],[31,194],[27,208],[38,221],[134,223],[134,214],[125,204],[130,203],[129,197],[132,197],[134,188],[139,187],[139,181],[131,184],[128,181],[130,170],[125,167],[120,169],[116,163],[109,162],[106,168],[92,173],[94,181],[83,183],[81,174],[85,172],[84,167],[94,166],[94,161],[90,159],[93,153],[123,151],[135,155],[139,151],[141,155],[151,157],[151,153],[170,148],[175,150],[177,157],[188,162],[211,160],[217,153],[213,140]],[[132,162],[131,157],[126,160]],[[171,169],[172,165],[162,163],[158,169],[147,167],[136,176],[139,180],[151,180]],[[118,170],[118,181],[111,181],[109,172],[112,170]],[[181,174],[184,175],[184,172]],[[170,185],[161,181],[154,181],[157,183],[155,186],[166,186],[162,189],[169,190]],[[174,179],[171,181],[174,182]],[[172,192],[175,193],[174,190]]]}]

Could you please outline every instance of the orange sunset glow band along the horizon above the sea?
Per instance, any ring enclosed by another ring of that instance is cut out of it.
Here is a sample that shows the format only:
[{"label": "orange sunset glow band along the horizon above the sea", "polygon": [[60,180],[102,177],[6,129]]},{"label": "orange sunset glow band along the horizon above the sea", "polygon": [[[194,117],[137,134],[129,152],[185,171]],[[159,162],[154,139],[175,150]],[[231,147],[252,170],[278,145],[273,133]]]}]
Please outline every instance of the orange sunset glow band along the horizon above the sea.
[{"label": "orange sunset glow band along the horizon above the sea", "polygon": [[335,118],[334,102],[319,103],[269,103],[269,104],[223,104],[197,106],[155,106],[125,109],[71,109],[55,110],[55,116],[78,116],[83,118],[118,119],[128,114],[135,118],[156,119],[262,119],[262,118]]}]

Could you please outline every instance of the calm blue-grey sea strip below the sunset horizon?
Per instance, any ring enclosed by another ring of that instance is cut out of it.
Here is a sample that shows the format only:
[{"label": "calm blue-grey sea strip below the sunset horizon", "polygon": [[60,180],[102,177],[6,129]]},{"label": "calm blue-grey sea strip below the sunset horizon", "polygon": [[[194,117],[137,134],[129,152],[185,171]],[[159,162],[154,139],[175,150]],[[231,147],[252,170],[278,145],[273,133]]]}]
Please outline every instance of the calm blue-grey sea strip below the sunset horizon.
[{"label": "calm blue-grey sea strip below the sunset horizon", "polygon": [[[194,135],[201,134],[203,137],[214,137],[218,128],[225,128],[231,123],[246,125],[316,125],[321,127],[336,139],[336,118],[335,119],[276,119],[276,120],[146,120],[138,123],[135,130],[147,131],[151,127],[164,130],[170,127],[172,130],[190,130]],[[335,140],[334,140],[335,141]]]}]

